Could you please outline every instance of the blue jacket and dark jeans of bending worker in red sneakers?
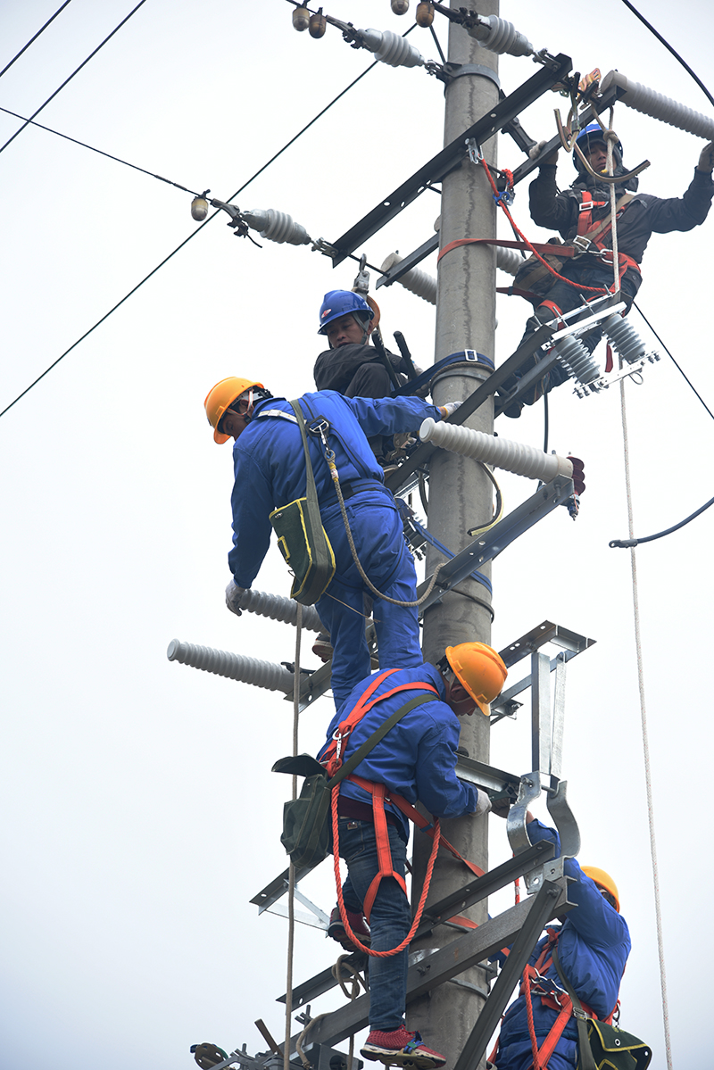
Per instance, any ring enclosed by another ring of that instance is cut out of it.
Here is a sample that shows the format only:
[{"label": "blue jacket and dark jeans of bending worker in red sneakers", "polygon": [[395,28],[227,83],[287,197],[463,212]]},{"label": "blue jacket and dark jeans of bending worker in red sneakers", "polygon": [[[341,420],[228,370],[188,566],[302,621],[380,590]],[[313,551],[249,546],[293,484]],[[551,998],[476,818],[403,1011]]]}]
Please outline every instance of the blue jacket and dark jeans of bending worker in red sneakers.
[{"label": "blue jacket and dark jeans of bending worker in red sneakers", "polygon": [[[332,719],[328,739],[320,751],[329,746],[332,734],[356,705],[374,677],[363,679],[353,689],[344,707]],[[375,696],[399,684],[424,683],[436,687],[444,696],[441,673],[424,662],[415,668],[392,673],[383,681]],[[373,732],[410,699],[431,692],[419,689],[397,692],[378,702],[355,725],[348,738],[343,758],[348,759]],[[354,774],[374,783],[386,784],[397,795],[402,795],[412,806],[419,799],[437,817],[460,817],[476,809],[478,792],[456,777],[456,748],[459,723],[456,714],[439,700],[416,706],[391,729],[369,754],[356,766]],[[347,797],[371,807],[371,795],[350,782],[339,785],[340,798]],[[392,865],[395,872],[405,875],[409,821],[396,807],[385,801],[384,810],[394,815],[396,825],[388,824]],[[339,854],[348,868],[343,886],[345,906],[355,914],[362,904],[373,878],[379,871],[375,826],[371,821],[340,816]],[[409,932],[411,911],[409,901],[393,877],[382,880],[369,918],[371,947],[388,951],[397,947]],[[390,1033],[404,1024],[407,995],[408,949],[389,959],[369,959],[369,1025],[371,1029]]]}]

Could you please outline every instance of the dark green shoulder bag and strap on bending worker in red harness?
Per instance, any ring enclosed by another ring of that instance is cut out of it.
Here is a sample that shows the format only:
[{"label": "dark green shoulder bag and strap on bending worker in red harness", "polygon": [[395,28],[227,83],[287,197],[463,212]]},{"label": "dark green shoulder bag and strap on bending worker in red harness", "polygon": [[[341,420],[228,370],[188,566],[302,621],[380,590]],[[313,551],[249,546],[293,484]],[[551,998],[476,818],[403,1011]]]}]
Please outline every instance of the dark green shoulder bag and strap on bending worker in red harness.
[{"label": "dark green shoulder bag and strap on bending worker in red harness", "polygon": [[273,773],[291,773],[305,777],[302,791],[297,799],[290,799],[283,807],[283,835],[280,843],[290,855],[295,869],[313,869],[330,852],[332,837],[331,801],[332,789],[360,764],[363,758],[376,747],[380,739],[397,721],[423,702],[432,702],[436,694],[417,696],[400,706],[369,736],[366,743],[332,777],[328,778],[324,766],[310,754],[282,758],[273,766]]}]

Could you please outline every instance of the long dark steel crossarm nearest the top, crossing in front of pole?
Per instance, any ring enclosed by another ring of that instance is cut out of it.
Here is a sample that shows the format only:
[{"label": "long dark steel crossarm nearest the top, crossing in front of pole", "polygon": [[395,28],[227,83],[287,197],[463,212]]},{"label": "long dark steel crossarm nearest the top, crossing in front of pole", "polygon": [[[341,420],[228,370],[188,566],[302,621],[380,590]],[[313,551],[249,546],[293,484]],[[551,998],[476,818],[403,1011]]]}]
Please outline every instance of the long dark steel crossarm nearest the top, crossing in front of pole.
[{"label": "long dark steel crossarm nearest the top, crossing in front of pole", "polygon": [[482,116],[472,126],[469,126],[459,137],[424,164],[411,178],[402,182],[394,193],[381,200],[371,212],[368,212],[341,238],[332,242],[332,246],[337,249],[337,255],[332,261],[333,266],[336,268],[343,260],[346,260],[358,246],[364,245],[373,234],[381,230],[407,204],[411,204],[427,186],[434,182],[441,182],[445,174],[459,167],[465,158],[465,141],[469,138],[475,138],[478,144],[483,144],[513,119],[516,119],[534,101],[543,96],[571,71],[573,61],[569,56],[557,56],[552,66],[542,67],[503,101],[499,101],[491,111]]}]

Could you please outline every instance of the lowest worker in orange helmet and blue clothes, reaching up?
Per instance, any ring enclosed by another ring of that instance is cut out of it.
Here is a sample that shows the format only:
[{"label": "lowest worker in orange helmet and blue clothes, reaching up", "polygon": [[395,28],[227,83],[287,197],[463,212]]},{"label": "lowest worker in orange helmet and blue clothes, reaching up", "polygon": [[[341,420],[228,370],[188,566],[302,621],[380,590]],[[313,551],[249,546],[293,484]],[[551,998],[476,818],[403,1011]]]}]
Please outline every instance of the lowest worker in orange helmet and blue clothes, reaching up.
[{"label": "lowest worker in orange helmet and blue clothes, reaching up", "polygon": [[[557,855],[560,854],[558,834],[536,821],[530,811],[527,828],[531,843],[550,840],[556,844]],[[579,1064],[575,1018],[571,1014],[562,1029],[562,1021],[556,1024],[560,1018],[560,1006],[555,996],[562,994],[563,985],[552,959],[553,948],[557,949],[560,968],[587,1014],[609,1022],[617,1009],[620,982],[632,946],[627,922],[620,914],[618,886],[604,869],[580,867],[575,858],[566,858],[563,868],[565,876],[571,877],[567,898],[576,905],[561,919],[562,924],[547,927],[546,935],[530,958],[534,972],[527,967],[520,995],[503,1019],[495,1059],[498,1070],[529,1070],[533,1066],[535,1056],[528,1022],[526,984],[531,990],[538,1051],[544,1044],[555,1044],[549,1058],[544,1055],[538,1065],[547,1066],[548,1070],[575,1070]],[[503,960],[502,956],[496,958]],[[537,973],[537,978],[533,973]],[[557,1031],[559,1029],[560,1033]]]}]

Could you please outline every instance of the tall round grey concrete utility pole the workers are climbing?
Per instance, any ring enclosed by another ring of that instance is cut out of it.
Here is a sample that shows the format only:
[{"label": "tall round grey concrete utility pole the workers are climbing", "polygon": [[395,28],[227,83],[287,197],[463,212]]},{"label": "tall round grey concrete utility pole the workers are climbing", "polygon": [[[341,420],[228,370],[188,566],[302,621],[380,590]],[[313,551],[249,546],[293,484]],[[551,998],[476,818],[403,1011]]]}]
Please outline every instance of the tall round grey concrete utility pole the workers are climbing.
[{"label": "tall round grey concrete utility pole the workers are climbing", "polygon": [[[459,0],[452,0],[452,7]],[[498,15],[498,0],[478,4],[480,15]],[[461,73],[446,89],[444,143],[467,129],[492,108],[499,98],[498,57],[469,36],[460,26],[450,22],[449,61],[459,63]],[[465,70],[467,67],[467,70]],[[489,166],[497,163],[497,139],[481,146]],[[442,183],[440,248],[459,238],[495,238],[496,203],[482,167],[466,158],[461,167]],[[449,253],[439,263],[437,333],[435,360],[462,349],[474,349],[493,360],[496,326],[496,253],[492,247],[468,245]],[[464,400],[478,386],[488,370],[474,365],[455,365],[439,377],[434,387],[435,404]],[[489,400],[466,422],[467,427],[486,433],[493,430],[493,408]],[[471,538],[468,530],[484,526],[491,519],[492,486],[481,465],[468,458],[441,452],[430,465],[429,531],[454,553]],[[443,556],[429,550],[427,575]],[[424,620],[424,657],[436,661],[444,647],[478,640],[490,642],[491,613],[488,590],[475,580],[458,584],[458,592],[447,594],[429,609]],[[470,758],[489,760],[489,723],[478,712],[461,725],[460,746]],[[471,861],[487,869],[487,819],[460,817],[443,822],[444,835]],[[505,831],[505,830],[504,830]],[[431,841],[417,837],[414,847],[414,896],[419,897]],[[434,872],[429,902],[456,890],[468,880],[468,871],[445,852],[441,852]],[[428,903],[427,903],[428,908]],[[473,921],[486,920],[486,904],[468,912]],[[455,930],[439,930],[438,937],[421,947],[443,946]],[[411,950],[416,950],[416,945]],[[474,991],[478,990],[478,991]],[[425,1042],[446,1056],[454,1066],[473,1028],[486,994],[483,970],[470,969],[457,983],[446,982],[408,1008],[408,1025],[419,1025]]]}]

